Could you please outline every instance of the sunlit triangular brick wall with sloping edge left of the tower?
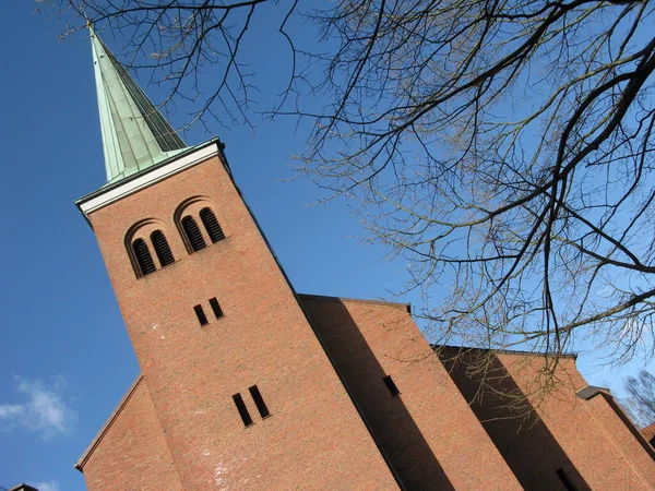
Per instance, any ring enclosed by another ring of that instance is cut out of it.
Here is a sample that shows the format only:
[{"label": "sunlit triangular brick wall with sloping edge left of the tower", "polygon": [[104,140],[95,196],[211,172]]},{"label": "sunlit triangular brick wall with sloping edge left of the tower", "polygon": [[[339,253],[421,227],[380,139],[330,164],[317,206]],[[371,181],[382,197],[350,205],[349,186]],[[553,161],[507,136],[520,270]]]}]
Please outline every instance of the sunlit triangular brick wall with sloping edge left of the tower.
[{"label": "sunlit triangular brick wall with sloping edge left of the tower", "polygon": [[93,491],[182,491],[143,380],[84,465]]}]

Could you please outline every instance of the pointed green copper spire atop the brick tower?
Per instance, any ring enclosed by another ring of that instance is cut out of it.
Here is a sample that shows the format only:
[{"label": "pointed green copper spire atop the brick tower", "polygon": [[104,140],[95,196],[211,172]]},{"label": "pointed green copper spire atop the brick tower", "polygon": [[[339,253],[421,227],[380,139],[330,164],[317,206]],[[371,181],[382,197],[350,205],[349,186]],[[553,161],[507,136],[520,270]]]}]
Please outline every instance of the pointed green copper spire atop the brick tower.
[{"label": "pointed green copper spire atop the brick tower", "polygon": [[183,149],[168,121],[91,31],[108,182],[117,182]]}]

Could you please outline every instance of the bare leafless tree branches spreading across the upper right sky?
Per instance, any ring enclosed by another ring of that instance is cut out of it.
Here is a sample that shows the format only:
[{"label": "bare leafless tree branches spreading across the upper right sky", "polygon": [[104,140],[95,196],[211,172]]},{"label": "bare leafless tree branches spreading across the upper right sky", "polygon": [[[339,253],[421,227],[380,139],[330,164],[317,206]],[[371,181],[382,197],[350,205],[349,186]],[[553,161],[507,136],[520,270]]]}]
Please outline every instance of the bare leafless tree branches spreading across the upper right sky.
[{"label": "bare leafless tree branches spreading across the upper right sky", "polygon": [[[242,45],[270,15],[291,59],[271,111],[313,123],[299,171],[406,260],[433,342],[546,352],[547,372],[588,336],[653,354],[652,2],[53,2],[205,124],[250,121]],[[298,16],[326,43],[296,46]]]}]

